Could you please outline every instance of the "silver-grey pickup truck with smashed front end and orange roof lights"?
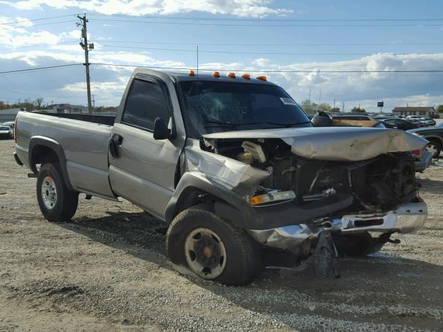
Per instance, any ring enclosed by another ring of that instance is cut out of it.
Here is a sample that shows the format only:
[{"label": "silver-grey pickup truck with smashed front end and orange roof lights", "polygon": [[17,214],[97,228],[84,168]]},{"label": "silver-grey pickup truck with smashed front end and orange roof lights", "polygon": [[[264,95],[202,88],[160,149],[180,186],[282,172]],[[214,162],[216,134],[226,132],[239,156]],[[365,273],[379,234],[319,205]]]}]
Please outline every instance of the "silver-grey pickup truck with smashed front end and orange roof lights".
[{"label": "silver-grey pickup truck with smashed front end and orange roof lights", "polygon": [[266,247],[338,276],[340,255],[426,221],[410,152],[426,140],[313,127],[266,77],[140,68],[115,118],[20,112],[15,130],[48,221],[71,219],[79,193],[122,197],[168,224],[177,270],[224,284],[250,282]]}]

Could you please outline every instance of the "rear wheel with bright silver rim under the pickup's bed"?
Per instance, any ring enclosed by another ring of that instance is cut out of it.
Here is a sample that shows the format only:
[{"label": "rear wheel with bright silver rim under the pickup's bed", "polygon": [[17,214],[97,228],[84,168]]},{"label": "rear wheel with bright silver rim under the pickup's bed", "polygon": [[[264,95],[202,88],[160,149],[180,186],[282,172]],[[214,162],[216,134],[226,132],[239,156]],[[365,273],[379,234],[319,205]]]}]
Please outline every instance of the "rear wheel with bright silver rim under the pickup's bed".
[{"label": "rear wheel with bright silver rim under the pickup's bed", "polygon": [[40,211],[48,221],[69,221],[75,214],[78,192],[71,192],[66,187],[60,165],[42,165],[37,176],[37,201]]}]

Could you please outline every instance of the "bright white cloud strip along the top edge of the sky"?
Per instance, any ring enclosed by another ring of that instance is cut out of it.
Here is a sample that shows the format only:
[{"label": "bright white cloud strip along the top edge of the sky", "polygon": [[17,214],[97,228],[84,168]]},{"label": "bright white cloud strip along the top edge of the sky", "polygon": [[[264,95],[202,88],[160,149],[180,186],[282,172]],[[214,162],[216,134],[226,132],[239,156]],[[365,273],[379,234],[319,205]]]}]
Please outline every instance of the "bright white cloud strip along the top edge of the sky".
[{"label": "bright white cloud strip along the top edge of the sky", "polygon": [[53,8],[80,8],[100,14],[169,15],[180,12],[208,12],[237,17],[265,17],[292,12],[284,8],[271,8],[271,0],[29,0],[0,1],[0,4],[21,10]]}]

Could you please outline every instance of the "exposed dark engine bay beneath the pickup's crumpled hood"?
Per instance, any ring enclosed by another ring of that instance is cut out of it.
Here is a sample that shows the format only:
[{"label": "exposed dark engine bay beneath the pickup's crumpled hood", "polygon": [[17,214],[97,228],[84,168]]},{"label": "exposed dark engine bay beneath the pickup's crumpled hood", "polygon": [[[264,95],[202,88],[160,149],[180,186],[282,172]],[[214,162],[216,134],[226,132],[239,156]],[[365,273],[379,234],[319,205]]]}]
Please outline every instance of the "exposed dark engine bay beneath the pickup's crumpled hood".
[{"label": "exposed dark engine bay beneath the pickup's crumpled hood", "polygon": [[[352,162],[310,160],[291,153],[291,147],[279,138],[217,140],[204,149],[269,173],[250,193],[255,207],[289,201],[302,205],[335,194],[350,194],[354,204],[347,211],[385,212],[417,196],[415,158],[408,152]],[[265,199],[254,199],[259,196]]]}]

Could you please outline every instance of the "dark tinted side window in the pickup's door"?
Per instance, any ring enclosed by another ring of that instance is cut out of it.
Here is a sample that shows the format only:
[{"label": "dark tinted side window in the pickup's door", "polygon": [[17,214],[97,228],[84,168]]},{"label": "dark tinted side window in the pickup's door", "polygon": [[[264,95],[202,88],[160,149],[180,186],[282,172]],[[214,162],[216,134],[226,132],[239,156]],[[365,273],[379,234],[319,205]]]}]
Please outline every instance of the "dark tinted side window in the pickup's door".
[{"label": "dark tinted side window in the pickup's door", "polygon": [[127,96],[122,122],[154,130],[156,118],[168,122],[172,110],[170,99],[159,84],[134,79]]}]

